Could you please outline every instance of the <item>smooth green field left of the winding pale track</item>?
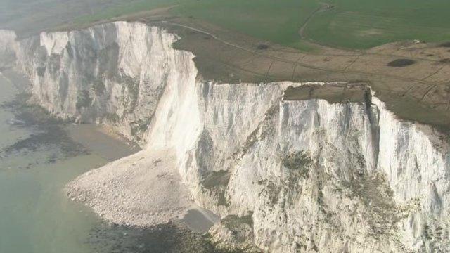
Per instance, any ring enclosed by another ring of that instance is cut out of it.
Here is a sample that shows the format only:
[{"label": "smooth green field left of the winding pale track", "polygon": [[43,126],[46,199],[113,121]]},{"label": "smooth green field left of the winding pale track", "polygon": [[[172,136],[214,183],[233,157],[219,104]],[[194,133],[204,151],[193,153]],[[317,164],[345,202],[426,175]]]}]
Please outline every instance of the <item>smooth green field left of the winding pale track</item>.
[{"label": "smooth green field left of the winding pale track", "polygon": [[194,0],[174,12],[285,46],[300,47],[300,27],[321,4],[316,0]]}]

